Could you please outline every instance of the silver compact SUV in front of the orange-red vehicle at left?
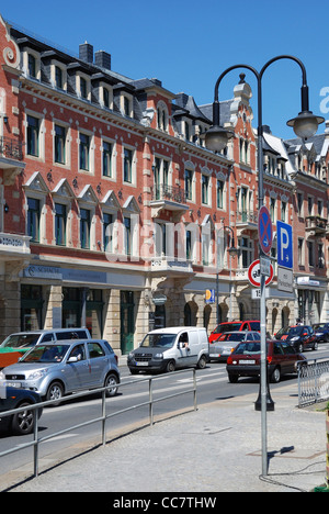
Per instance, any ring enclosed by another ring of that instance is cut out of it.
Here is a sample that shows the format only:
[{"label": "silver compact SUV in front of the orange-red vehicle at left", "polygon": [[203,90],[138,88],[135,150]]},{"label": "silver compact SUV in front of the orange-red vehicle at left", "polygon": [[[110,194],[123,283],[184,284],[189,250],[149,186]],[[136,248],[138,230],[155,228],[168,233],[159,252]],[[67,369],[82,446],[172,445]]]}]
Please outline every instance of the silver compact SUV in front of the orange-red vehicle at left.
[{"label": "silver compact SUV in front of the orange-red vehicle at left", "polygon": [[0,371],[2,384],[37,392],[45,400],[83,389],[109,387],[117,392],[120,370],[111,345],[103,339],[63,340],[39,344],[18,364]]}]

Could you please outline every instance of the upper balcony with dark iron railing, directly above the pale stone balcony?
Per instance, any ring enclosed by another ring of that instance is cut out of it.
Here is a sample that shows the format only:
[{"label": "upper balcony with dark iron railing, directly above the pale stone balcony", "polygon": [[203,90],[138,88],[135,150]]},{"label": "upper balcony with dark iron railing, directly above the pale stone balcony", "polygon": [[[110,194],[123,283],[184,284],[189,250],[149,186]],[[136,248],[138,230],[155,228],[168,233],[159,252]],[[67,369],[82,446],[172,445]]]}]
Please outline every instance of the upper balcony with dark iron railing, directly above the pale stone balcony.
[{"label": "upper balcony with dark iron railing, directly above the pale stone balcony", "polygon": [[186,204],[186,193],[179,186],[161,185],[154,188],[152,200],[150,202],[152,208],[152,217],[158,217],[163,210],[172,211],[175,217],[189,211]]}]

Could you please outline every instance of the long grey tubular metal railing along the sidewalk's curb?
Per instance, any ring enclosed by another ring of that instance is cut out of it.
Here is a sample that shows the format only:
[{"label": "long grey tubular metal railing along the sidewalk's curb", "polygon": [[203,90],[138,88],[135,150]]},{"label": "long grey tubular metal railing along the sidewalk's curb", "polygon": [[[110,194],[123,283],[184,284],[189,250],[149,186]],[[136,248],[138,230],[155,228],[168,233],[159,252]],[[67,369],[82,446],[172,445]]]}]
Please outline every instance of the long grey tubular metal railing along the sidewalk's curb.
[{"label": "long grey tubular metal railing along the sidewalk's curb", "polygon": [[[123,414],[125,412],[133,411],[133,410],[136,410],[138,407],[143,407],[143,406],[148,405],[149,406],[149,425],[152,426],[155,424],[154,405],[156,403],[159,403],[159,402],[162,402],[164,400],[169,400],[169,399],[172,399],[172,398],[175,398],[175,396],[181,396],[183,394],[189,394],[189,393],[193,394],[193,409],[194,409],[194,411],[197,411],[196,371],[195,371],[195,369],[194,368],[192,368],[192,369],[189,368],[189,369],[185,369],[185,370],[182,370],[182,371],[175,371],[174,376],[177,376],[179,373],[186,373],[189,371],[193,372],[193,387],[192,388],[186,389],[184,391],[175,392],[173,394],[168,394],[166,396],[157,398],[157,399],[154,398],[154,382],[159,381],[161,379],[164,379],[166,377],[168,377],[166,375],[162,376],[162,377],[156,377],[156,378],[145,378],[145,379],[131,380],[128,382],[117,384],[118,388],[123,388],[125,386],[131,386],[131,384],[135,386],[136,383],[147,382],[148,383],[148,401],[138,403],[136,405],[128,406],[126,409],[122,409],[120,411],[115,411],[115,412],[113,412],[111,414],[106,414],[106,410],[105,410],[105,407],[106,407],[106,391],[109,389],[112,389],[113,386],[110,386],[110,388],[100,388],[100,389],[88,390],[88,391],[83,391],[83,392],[80,392],[80,393],[71,394],[69,396],[64,396],[60,400],[46,401],[46,402],[37,403],[35,405],[29,405],[29,407],[26,407],[26,405],[25,405],[24,407],[20,407],[20,409],[15,409],[13,411],[7,411],[5,413],[1,413],[1,418],[2,418],[2,417],[7,417],[7,416],[12,416],[14,414],[24,412],[26,410],[33,411],[33,414],[34,414],[34,428],[33,428],[33,440],[32,442],[19,445],[15,448],[10,448],[10,449],[8,449],[5,451],[0,452],[0,458],[5,457],[5,456],[11,455],[11,454],[14,454],[16,451],[21,451],[23,449],[33,447],[33,449],[34,449],[34,451],[33,451],[33,476],[37,477],[38,472],[39,472],[39,469],[38,469],[39,445],[42,443],[45,443],[45,442],[49,440],[49,439],[61,436],[64,434],[72,432],[72,431],[77,431],[78,428],[82,428],[82,427],[86,427],[88,425],[92,425],[94,423],[100,423],[101,424],[102,445],[105,446],[105,444],[106,444],[106,421],[110,420],[111,417],[114,417],[114,416],[117,416],[118,414]],[[102,396],[101,396],[101,403],[102,403],[102,409],[101,409],[102,414],[101,414],[101,416],[94,417],[94,418],[86,421],[83,423],[79,423],[79,424],[73,425],[73,426],[69,426],[69,427],[67,427],[67,428],[65,428],[63,431],[56,432],[54,434],[49,434],[49,435],[46,435],[44,437],[39,437],[39,420],[38,420],[38,415],[37,415],[37,411],[39,409],[43,409],[45,406],[50,406],[50,405],[54,406],[54,404],[57,405],[58,403],[65,402],[67,400],[75,400],[75,399],[78,399],[78,398],[90,395],[91,393],[92,394],[94,394],[94,393],[101,393],[102,394]],[[109,399],[109,400],[111,401],[111,399]]]}]

